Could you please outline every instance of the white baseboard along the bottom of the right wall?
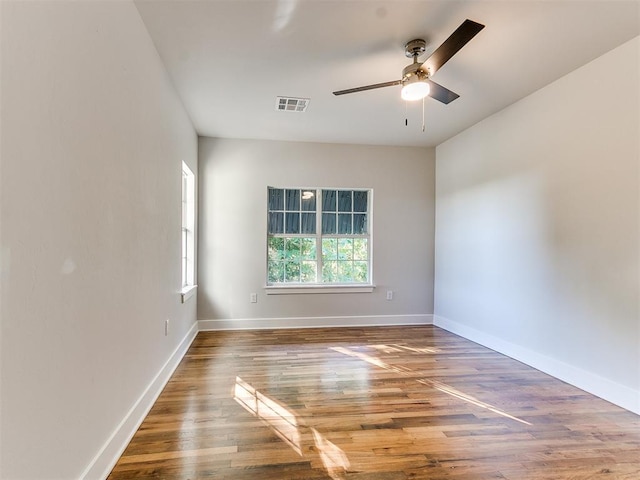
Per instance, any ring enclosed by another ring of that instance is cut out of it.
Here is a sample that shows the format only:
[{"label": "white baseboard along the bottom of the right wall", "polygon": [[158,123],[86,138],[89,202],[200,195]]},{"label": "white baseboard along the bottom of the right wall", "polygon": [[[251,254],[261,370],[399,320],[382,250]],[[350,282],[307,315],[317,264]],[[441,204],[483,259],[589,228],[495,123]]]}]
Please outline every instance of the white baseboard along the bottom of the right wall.
[{"label": "white baseboard along the bottom of the right wall", "polygon": [[439,315],[433,316],[433,323],[640,415],[640,391]]}]

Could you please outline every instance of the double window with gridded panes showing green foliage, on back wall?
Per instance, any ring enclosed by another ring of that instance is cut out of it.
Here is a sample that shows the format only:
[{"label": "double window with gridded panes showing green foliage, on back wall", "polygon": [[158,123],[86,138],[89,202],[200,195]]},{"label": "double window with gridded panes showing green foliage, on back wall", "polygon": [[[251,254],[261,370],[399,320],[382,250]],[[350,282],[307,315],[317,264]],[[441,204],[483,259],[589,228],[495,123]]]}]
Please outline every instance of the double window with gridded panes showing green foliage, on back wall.
[{"label": "double window with gridded panes showing green foliage, on back wall", "polygon": [[371,190],[268,188],[267,285],[370,285]]}]

